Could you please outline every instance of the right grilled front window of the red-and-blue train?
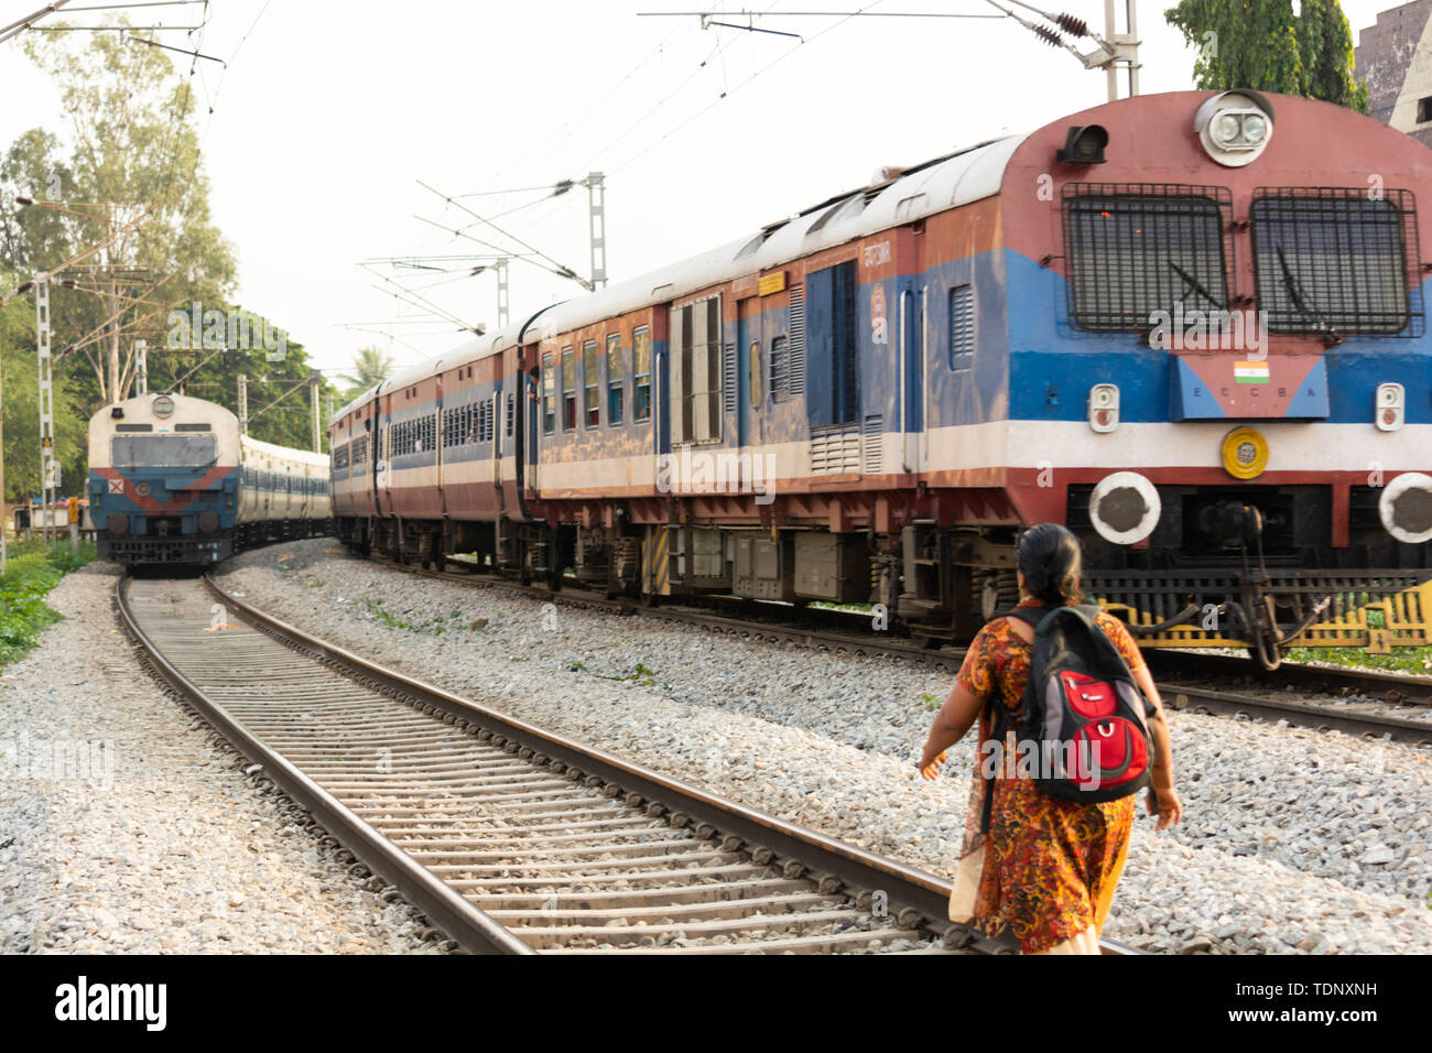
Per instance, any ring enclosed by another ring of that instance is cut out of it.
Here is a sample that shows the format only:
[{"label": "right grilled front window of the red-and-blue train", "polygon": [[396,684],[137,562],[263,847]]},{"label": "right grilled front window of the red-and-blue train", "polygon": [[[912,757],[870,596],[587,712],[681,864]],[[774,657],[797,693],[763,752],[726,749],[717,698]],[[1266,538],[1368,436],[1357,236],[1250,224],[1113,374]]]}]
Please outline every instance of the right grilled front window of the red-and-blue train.
[{"label": "right grilled front window of the red-and-blue train", "polygon": [[1421,335],[1422,265],[1408,191],[1370,198],[1366,188],[1263,188],[1249,216],[1269,330]]}]

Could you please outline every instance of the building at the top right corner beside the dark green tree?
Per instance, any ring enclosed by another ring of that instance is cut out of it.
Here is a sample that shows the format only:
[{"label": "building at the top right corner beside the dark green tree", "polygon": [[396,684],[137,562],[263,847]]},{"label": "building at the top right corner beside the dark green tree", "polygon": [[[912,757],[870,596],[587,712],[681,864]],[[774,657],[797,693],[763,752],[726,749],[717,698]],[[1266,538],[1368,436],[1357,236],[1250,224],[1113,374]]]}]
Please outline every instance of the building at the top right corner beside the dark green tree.
[{"label": "building at the top right corner beside the dark green tree", "polygon": [[1432,0],[1379,11],[1353,59],[1372,116],[1432,146]]}]

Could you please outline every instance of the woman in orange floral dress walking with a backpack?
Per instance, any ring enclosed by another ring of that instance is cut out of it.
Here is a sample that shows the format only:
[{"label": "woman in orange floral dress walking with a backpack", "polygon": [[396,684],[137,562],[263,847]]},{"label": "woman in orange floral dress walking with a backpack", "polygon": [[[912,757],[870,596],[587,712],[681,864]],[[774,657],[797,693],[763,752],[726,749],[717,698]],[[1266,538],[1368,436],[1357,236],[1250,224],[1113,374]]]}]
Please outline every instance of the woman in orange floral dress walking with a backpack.
[{"label": "woman in orange floral dress walking with a backpack", "polygon": [[[1017,769],[1010,762],[988,764],[991,756],[1004,756],[1010,742],[1004,732],[1018,726],[1035,658],[1034,626],[1041,625],[1045,612],[1080,602],[1078,539],[1064,527],[1055,523],[1031,527],[1020,542],[1017,562],[1021,600],[1010,616],[985,625],[969,645],[919,761],[921,774],[927,779],[937,778],[945,751],[964,738],[975,719],[979,721],[977,771],[949,917],[971,921],[990,936],[1010,925],[1025,954],[1097,954],[1098,936],[1128,851],[1137,789],[1110,788],[1106,782],[1103,792],[1090,794],[1098,802],[1081,801],[1077,792],[1054,795],[1060,787],[1037,779],[1028,769]],[[1088,632],[1088,620],[1077,612],[1063,612],[1051,620],[1068,619],[1075,629],[1083,623]],[[1147,769],[1147,775],[1127,785],[1141,787],[1151,776],[1148,811],[1157,811],[1157,828],[1166,830],[1180,821],[1183,807],[1173,788],[1173,754],[1158,691],[1123,623],[1103,612],[1094,613],[1091,620],[1117,648],[1127,669],[1111,673],[1116,681],[1113,688],[1097,678],[1081,678],[1067,670],[1058,673],[1065,679],[1050,683],[1053,688],[1065,682],[1088,685],[1085,693],[1071,693],[1071,713],[1081,705],[1093,705],[1095,713],[1114,713],[1120,692],[1117,681],[1126,683],[1126,699],[1134,698],[1131,688],[1137,685],[1147,699],[1147,715],[1137,715],[1136,721],[1095,716],[1080,734],[1098,728],[1100,732],[1090,732],[1088,736],[1108,736],[1116,725],[1134,729],[1123,744],[1113,738],[1107,741],[1114,746],[1127,746],[1127,754],[1121,748],[1113,751],[1124,768],[1133,764],[1134,769],[1140,765]],[[1050,632],[1050,625],[1041,625],[1041,632]],[[1075,638],[1077,632],[1070,639]],[[1098,643],[1107,652],[1103,668],[1110,668],[1110,662],[1121,665],[1111,658],[1107,646]],[[1047,655],[1051,650],[1040,652],[1040,660],[1050,660]],[[1067,650],[1058,658],[1068,658]],[[1031,692],[1031,698],[1038,701],[1040,692]],[[1063,705],[1057,691],[1051,691],[1048,699],[1050,705]],[[1100,705],[1107,708],[1100,709]],[[1078,719],[1077,715],[1074,719]],[[1035,726],[1030,725],[1028,716],[1025,726]],[[1151,755],[1147,744],[1153,745]],[[1071,771],[1077,766],[1075,762]],[[1110,768],[1094,761],[1095,772],[1107,775]],[[1127,772],[1118,774],[1123,768],[1114,771],[1114,781],[1130,778]],[[1053,789],[1047,792],[1041,784],[1045,788],[1053,785]],[[1098,787],[1097,775],[1091,785]],[[1123,795],[1108,799],[1114,794]]]}]

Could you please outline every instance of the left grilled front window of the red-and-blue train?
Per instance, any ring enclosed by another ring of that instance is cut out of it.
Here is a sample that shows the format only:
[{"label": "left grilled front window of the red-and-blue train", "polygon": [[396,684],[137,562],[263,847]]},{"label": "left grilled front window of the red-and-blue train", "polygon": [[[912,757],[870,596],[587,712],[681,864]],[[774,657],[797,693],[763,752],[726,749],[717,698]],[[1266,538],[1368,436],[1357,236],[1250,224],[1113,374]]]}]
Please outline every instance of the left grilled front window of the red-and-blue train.
[{"label": "left grilled front window of the red-and-blue train", "polygon": [[1090,332],[1146,332],[1160,312],[1226,311],[1232,198],[1219,186],[1070,183],[1070,318]]}]

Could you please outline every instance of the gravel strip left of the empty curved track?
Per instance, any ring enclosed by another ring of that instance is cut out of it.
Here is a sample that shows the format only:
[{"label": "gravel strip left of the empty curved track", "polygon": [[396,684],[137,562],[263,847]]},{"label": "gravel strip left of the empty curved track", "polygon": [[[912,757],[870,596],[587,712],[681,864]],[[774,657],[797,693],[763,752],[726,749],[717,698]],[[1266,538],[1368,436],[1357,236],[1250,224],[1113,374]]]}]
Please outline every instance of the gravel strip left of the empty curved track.
[{"label": "gravel strip left of the empty curved track", "polygon": [[67,574],[0,670],[0,953],[438,950],[140,669],[117,573]]}]

